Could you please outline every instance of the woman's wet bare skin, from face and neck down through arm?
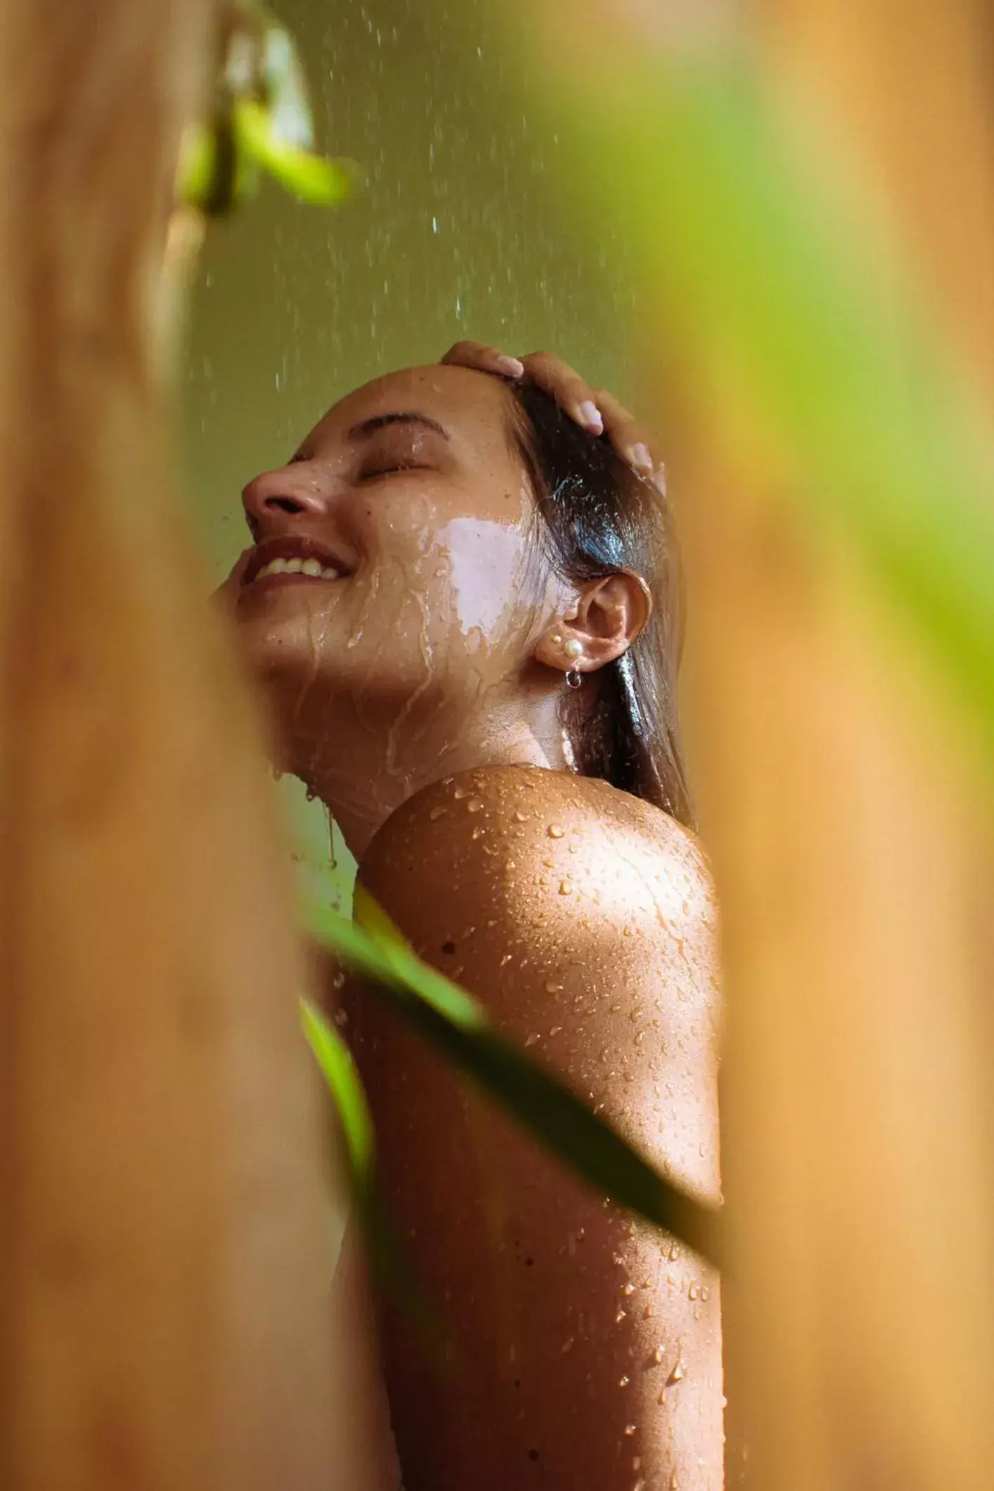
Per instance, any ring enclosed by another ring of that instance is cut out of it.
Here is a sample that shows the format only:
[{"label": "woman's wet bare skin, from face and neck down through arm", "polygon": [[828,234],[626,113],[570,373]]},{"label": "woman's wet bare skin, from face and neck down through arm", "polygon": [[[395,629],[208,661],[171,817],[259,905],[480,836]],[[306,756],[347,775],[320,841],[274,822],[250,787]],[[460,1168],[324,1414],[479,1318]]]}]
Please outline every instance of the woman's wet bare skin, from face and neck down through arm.
[{"label": "woman's wet bare skin, from face and neck down through arm", "polygon": [[[568,769],[557,719],[565,669],[596,687],[645,602],[626,577],[542,573],[508,403],[495,377],[431,367],[337,404],[301,459],[246,488],[240,635],[282,763],[416,948],[714,1197],[706,869],[663,813]],[[255,579],[280,558],[334,573]],[[389,1206],[459,1352],[434,1373],[384,1321],[407,1491],[715,1491],[715,1281],[562,1175],[361,990],[343,1014]]]}]

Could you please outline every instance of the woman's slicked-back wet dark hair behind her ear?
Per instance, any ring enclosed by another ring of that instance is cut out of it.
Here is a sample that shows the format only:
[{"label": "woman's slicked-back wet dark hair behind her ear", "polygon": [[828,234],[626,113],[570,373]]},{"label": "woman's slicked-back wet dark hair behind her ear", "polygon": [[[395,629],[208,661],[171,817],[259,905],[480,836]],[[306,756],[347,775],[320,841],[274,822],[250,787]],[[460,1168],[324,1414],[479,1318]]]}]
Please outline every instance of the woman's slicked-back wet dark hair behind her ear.
[{"label": "woman's slicked-back wet dark hair behind her ear", "polygon": [[563,689],[577,769],[656,804],[693,828],[677,705],[683,580],[669,504],[659,489],[534,385],[510,383],[511,437],[531,479],[536,541],[565,581],[641,576],[653,613],[621,658]]}]

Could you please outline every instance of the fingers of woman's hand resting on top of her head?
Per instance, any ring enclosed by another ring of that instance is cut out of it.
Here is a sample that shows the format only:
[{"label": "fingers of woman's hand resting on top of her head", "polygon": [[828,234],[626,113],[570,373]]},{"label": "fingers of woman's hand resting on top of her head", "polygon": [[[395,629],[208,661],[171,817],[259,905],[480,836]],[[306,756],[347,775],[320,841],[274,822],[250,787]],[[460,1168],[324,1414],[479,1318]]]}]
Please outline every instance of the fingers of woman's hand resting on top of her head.
[{"label": "fingers of woman's hand resting on top of her head", "polygon": [[666,492],[663,464],[653,458],[645,429],[618,404],[614,394],[607,388],[592,388],[554,352],[529,352],[525,358],[513,358],[481,341],[458,341],[441,362],[536,383],[583,429],[592,435],[607,435],[623,461],[639,476],[650,477],[660,492]]}]

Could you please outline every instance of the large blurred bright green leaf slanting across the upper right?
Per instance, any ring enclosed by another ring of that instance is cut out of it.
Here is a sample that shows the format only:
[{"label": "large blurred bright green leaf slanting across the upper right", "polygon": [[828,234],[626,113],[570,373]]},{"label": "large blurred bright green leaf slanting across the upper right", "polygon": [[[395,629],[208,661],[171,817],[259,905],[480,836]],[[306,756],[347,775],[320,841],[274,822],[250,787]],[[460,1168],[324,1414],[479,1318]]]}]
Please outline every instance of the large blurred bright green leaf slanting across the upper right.
[{"label": "large blurred bright green leaf slanting across the upper right", "polygon": [[994,744],[990,419],[851,163],[727,48],[618,51],[596,88],[539,66],[566,85],[575,200],[641,259],[668,359],[738,389]]}]

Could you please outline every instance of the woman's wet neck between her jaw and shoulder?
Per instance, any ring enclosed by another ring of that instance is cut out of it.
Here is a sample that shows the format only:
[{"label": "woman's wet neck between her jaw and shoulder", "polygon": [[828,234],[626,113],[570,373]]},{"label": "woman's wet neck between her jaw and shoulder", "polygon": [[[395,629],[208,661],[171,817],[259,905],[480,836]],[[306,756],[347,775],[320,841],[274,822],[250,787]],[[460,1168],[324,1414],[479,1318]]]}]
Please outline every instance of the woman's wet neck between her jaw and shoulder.
[{"label": "woman's wet neck between her jaw and shoulder", "polygon": [[401,735],[396,720],[374,729],[368,717],[356,717],[349,729],[335,720],[322,734],[323,741],[298,746],[288,765],[325,804],[358,863],[390,814],[443,777],[480,766],[568,769],[554,696],[534,701],[526,713],[520,702],[513,711],[490,708],[458,729],[452,722],[422,722],[419,729],[408,722]]}]

